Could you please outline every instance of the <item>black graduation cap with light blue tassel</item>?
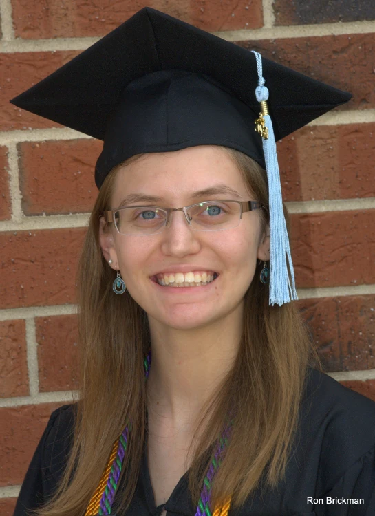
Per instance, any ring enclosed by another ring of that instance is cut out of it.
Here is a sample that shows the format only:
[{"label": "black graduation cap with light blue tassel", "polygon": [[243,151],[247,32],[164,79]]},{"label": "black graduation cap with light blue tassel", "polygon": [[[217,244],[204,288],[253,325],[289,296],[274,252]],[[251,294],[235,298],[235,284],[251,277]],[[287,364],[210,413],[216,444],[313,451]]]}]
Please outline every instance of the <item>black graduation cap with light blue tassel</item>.
[{"label": "black graduation cap with light blue tassel", "polygon": [[231,147],[265,166],[270,304],[281,305],[297,292],[275,142],[351,97],[146,7],[10,102],[103,140],[98,189],[132,155],[195,145]]}]

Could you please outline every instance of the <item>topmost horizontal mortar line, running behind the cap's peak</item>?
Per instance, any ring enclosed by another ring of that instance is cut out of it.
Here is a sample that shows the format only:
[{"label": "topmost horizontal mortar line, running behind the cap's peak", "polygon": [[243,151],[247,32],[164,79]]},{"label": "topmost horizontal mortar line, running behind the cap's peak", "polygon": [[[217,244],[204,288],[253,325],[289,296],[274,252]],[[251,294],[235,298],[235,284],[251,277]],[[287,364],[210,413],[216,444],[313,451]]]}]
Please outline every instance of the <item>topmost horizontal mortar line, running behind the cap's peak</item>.
[{"label": "topmost horizontal mortar line, running behind the cap's peak", "polygon": [[[10,0],[6,0],[10,1]],[[265,0],[266,2],[269,0]],[[371,34],[375,32],[375,21],[338,21],[311,25],[274,25],[260,29],[239,29],[211,32],[228,41],[257,41],[259,39],[297,39],[314,36],[341,36]],[[61,50],[86,50],[100,37],[21,39],[0,41],[0,52],[58,52]]]}]

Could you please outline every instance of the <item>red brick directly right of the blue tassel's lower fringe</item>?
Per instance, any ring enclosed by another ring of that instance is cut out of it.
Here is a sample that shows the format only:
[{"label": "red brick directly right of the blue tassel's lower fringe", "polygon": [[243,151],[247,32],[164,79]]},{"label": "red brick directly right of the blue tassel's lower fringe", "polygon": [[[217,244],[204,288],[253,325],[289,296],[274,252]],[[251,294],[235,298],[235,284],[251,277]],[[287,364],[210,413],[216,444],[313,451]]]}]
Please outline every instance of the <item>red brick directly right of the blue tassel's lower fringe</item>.
[{"label": "red brick directly right of the blue tassel's lower fringe", "polygon": [[375,282],[375,210],[294,214],[291,219],[297,288]]}]

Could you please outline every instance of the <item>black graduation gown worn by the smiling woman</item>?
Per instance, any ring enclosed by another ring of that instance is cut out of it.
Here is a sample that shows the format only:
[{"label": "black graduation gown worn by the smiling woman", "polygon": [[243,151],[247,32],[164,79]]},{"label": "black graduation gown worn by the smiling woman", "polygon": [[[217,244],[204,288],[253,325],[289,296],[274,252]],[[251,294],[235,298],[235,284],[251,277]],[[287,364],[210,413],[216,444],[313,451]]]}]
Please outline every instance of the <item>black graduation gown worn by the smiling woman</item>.
[{"label": "black graduation gown worn by the smiling woman", "polygon": [[[52,413],[21,486],[14,516],[25,516],[53,493],[69,451],[72,405]],[[147,447],[136,493],[126,513],[159,515],[147,466]],[[299,431],[277,489],[248,498],[228,516],[375,516],[375,402],[309,368],[300,409]],[[121,483],[116,500],[121,496]],[[187,472],[164,504],[167,516],[194,516]]]}]

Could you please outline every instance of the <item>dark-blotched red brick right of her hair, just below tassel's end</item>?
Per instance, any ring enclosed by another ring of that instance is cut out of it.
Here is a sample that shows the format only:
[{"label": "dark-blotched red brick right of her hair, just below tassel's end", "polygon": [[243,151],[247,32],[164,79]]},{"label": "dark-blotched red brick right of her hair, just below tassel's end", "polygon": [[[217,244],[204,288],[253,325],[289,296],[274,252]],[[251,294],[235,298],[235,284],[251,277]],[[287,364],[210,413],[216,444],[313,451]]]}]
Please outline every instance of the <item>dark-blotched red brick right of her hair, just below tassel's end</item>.
[{"label": "dark-blotched red brick right of her hair, just below tassel's end", "polygon": [[375,298],[300,299],[325,371],[375,369]]}]

